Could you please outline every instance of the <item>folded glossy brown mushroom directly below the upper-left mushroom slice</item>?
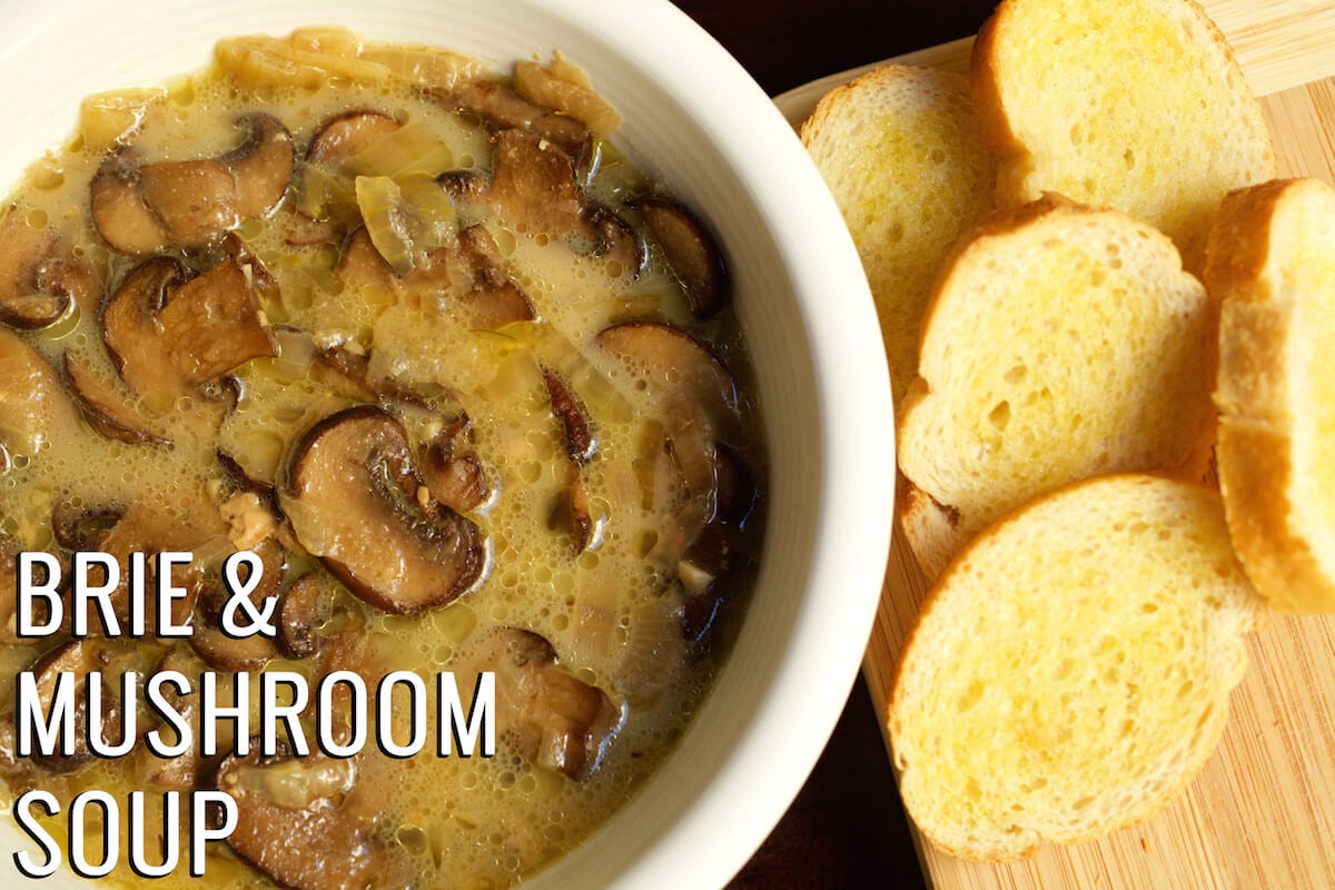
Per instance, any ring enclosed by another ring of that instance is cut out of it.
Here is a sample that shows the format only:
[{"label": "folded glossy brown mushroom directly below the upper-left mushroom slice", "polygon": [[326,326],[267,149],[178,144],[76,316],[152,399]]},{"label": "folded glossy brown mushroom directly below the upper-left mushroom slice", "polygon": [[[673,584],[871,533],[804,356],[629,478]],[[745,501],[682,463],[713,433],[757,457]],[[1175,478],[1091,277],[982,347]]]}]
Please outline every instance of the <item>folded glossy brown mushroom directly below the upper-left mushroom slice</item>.
[{"label": "folded glossy brown mushroom directly below the upper-left mushroom slice", "polygon": [[135,267],[103,312],[103,340],[120,376],[152,411],[254,358],[274,343],[235,258],[191,276],[159,256]]}]

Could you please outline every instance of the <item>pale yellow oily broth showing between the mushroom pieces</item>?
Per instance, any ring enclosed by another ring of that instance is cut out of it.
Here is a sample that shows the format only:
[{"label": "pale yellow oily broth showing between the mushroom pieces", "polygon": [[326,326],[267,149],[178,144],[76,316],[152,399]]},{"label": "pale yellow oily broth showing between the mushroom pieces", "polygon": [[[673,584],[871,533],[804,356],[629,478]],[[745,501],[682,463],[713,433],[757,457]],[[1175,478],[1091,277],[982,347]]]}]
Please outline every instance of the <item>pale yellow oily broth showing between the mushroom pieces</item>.
[{"label": "pale yellow oily broth showing between the mushroom pieces", "polygon": [[[231,121],[239,113],[263,111],[290,129],[300,156],[324,120],[350,108],[383,111],[405,124],[430,121],[449,149],[451,169],[487,172],[490,144],[479,125],[443,113],[410,84],[394,80],[363,85],[334,79],[318,91],[256,96],[214,69],[178,80],[150,101],[131,141],[142,147],[147,161],[212,157],[235,147],[238,129]],[[25,213],[35,228],[52,226],[60,232],[92,264],[109,294],[138,260],[109,251],[88,219],[88,187],[104,149],[75,140],[59,156],[37,161],[20,188],[15,212]],[[646,183],[609,149],[586,188],[611,201],[625,189],[646,188]],[[291,199],[290,193],[284,200]],[[521,627],[550,640],[566,670],[606,690],[623,709],[625,722],[606,758],[581,782],[515,755],[503,725],[497,727],[495,758],[391,761],[376,754],[374,745],[359,755],[359,785],[383,789],[375,802],[383,813],[379,835],[410,862],[415,886],[513,885],[587,837],[654,771],[698,706],[718,650],[725,648],[718,628],[708,644],[684,639],[674,611],[680,600],[650,558],[669,534],[663,518],[689,507],[688,498],[674,495],[670,487],[655,488],[657,503],[645,495],[645,480],[661,480],[665,472],[655,458],[663,406],[651,388],[590,344],[598,331],[618,320],[666,320],[712,342],[745,383],[736,322],[726,311],[709,323],[694,322],[657,251],[643,274],[630,280],[606,260],[573,256],[565,246],[541,236],[493,227],[539,320],[478,331],[431,306],[399,304],[343,287],[332,272],[336,258],[327,248],[286,246],[272,215],[246,220],[239,234],[276,279],[280,299],[260,304],[271,326],[304,332],[318,348],[343,346],[368,354],[372,374],[407,378],[423,387],[430,394],[426,408],[402,411],[415,440],[439,428],[442,418],[466,412],[470,448],[487,471],[493,496],[470,518],[487,535],[491,564],[473,592],[442,608],[399,616],[363,604],[324,578],[334,591],[338,620],[360,630],[356,646],[370,679],[413,670],[430,689],[437,671],[469,670],[467,655],[490,634]],[[123,388],[101,347],[97,319],[89,314],[24,339],[53,367],[69,354],[107,386]],[[602,522],[598,544],[581,554],[571,552],[569,531],[553,520],[553,504],[577,470],[565,454],[539,362],[558,367],[574,382],[597,432],[597,456],[578,472]],[[294,430],[350,404],[312,383],[306,371],[300,356],[287,355],[238,368],[243,395],[226,422],[226,435],[259,443],[255,447],[260,451],[267,436],[268,459],[280,460],[280,443]],[[59,383],[59,375],[53,379]],[[738,450],[760,472],[754,406],[745,388],[742,392],[749,440]],[[288,403],[282,410],[268,402],[283,398]],[[231,483],[215,459],[220,411],[207,398],[191,398],[183,399],[176,412],[155,418],[170,432],[171,448],[113,442],[93,432],[75,411],[56,411],[51,447],[0,476],[4,531],[25,550],[49,548],[55,546],[49,516],[57,502],[73,499],[75,506],[87,507],[142,502],[199,528],[212,542],[203,550],[224,548],[228,527],[219,518],[219,503],[231,496]],[[750,523],[752,536],[758,524]],[[728,607],[732,611],[725,619],[736,620],[740,603],[729,602]],[[4,667],[19,671],[43,647],[0,648]],[[307,662],[276,659],[266,670],[295,670],[316,679]],[[471,677],[461,674],[465,697]],[[12,686],[0,697],[0,706],[11,707]],[[254,694],[251,717],[254,727]],[[434,707],[429,725],[435,725]],[[68,801],[80,790],[104,789],[124,799],[129,790],[151,787],[147,775],[154,766],[138,751],[69,775],[25,769],[7,773],[11,794],[40,786]],[[89,834],[99,831],[96,821],[89,825]],[[60,838],[61,826],[52,822],[51,833]],[[121,850],[127,843],[123,837]],[[210,886],[272,886],[222,845],[214,845],[207,867]],[[125,867],[115,874],[127,886],[138,883]],[[186,886],[188,878],[144,883]]]}]

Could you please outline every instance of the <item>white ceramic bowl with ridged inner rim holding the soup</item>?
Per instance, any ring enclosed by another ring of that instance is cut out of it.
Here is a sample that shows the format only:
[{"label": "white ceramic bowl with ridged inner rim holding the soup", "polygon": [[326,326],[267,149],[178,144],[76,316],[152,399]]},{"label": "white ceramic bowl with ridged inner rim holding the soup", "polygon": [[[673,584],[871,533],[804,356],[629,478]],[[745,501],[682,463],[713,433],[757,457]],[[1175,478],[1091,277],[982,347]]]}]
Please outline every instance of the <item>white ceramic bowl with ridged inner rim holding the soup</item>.
[{"label": "white ceramic bowl with ridged inner rim holding the soup", "polygon": [[[772,462],[750,614],[674,755],[603,829],[526,886],[722,886],[825,746],[861,663],[886,563],[889,383],[838,211],[760,87],[666,0],[5,3],[0,183],[12,188],[72,132],[83,96],[202,68],[218,37],[307,24],[443,45],[497,67],[561,49],[622,112],[615,141],[721,236]],[[19,882],[8,851],[20,838],[12,822],[0,826],[3,886]]]}]

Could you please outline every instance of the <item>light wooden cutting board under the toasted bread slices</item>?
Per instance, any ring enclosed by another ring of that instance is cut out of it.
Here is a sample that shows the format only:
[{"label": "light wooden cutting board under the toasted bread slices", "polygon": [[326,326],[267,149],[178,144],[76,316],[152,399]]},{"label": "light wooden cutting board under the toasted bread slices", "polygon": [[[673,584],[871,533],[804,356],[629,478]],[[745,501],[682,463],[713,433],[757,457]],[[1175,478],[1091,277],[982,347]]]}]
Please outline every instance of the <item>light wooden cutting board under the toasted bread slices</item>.
[{"label": "light wooden cutting board under the toasted bread slices", "polygon": [[[1335,0],[1204,0],[1262,104],[1282,176],[1335,184]],[[894,61],[968,69],[972,40]],[[780,96],[794,124],[857,72]],[[1331,358],[1335,362],[1335,356]],[[893,542],[864,663],[881,727],[905,634],[926,595],[902,536]],[[937,890],[1335,890],[1335,616],[1274,616],[1250,639],[1219,749],[1157,817],[1025,862],[952,858],[918,838]]]}]

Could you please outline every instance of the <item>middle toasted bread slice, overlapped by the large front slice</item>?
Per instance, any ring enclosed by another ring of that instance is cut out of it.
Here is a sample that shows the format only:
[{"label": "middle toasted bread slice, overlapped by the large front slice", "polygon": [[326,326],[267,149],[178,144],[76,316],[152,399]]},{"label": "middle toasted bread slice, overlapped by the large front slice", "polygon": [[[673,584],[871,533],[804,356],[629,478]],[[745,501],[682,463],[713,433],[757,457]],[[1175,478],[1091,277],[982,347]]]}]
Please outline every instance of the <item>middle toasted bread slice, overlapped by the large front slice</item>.
[{"label": "middle toasted bread slice, overlapped by the large front slice", "polygon": [[904,400],[904,531],[924,572],[1003,512],[1101,472],[1200,479],[1218,314],[1172,243],[1047,196],[961,242]]}]

